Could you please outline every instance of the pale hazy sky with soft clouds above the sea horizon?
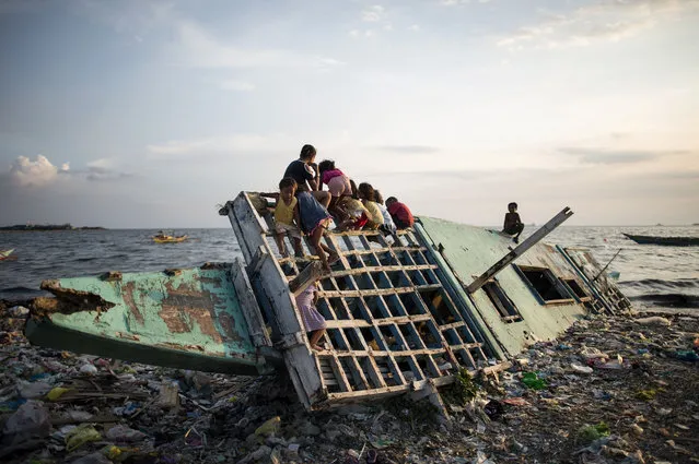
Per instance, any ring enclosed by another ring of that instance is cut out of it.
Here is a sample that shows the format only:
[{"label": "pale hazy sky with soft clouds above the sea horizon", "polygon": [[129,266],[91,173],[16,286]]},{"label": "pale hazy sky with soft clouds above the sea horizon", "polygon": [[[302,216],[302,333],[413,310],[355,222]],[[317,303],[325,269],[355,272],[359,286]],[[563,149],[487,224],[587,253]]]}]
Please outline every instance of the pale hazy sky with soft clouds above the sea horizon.
[{"label": "pale hazy sky with soft clouds above the sea horizon", "polygon": [[699,223],[699,0],[0,0],[0,225],[228,227],[311,143],[416,215]]}]

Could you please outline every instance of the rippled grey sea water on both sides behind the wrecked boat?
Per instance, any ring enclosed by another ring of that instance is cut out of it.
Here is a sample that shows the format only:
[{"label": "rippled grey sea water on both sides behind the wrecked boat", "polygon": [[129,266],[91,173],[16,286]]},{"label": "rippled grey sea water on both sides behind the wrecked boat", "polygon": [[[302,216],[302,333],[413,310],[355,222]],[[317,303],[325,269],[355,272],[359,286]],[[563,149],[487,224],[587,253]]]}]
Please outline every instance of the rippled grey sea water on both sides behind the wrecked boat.
[{"label": "rippled grey sea water on both sides behind the wrecked boat", "polygon": [[[527,227],[523,238],[534,231]],[[0,261],[0,299],[43,295],[47,278],[98,275],[106,271],[147,272],[230,262],[241,257],[231,228],[178,229],[182,243],[154,243],[153,229],[0,233],[0,249],[14,248],[16,261]],[[622,233],[699,236],[699,227],[561,226],[544,241],[589,248],[602,265],[620,249],[608,272],[638,307],[699,308],[699,247],[637,245]]]}]

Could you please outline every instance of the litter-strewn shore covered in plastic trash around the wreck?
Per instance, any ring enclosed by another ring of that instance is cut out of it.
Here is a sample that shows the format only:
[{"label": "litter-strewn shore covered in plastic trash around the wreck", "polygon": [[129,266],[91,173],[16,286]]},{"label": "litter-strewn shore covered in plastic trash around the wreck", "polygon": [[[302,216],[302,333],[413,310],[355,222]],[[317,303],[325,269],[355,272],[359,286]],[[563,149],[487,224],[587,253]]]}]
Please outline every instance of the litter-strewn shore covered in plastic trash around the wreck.
[{"label": "litter-strewn shore covered in plastic trash around the wreck", "polygon": [[4,463],[696,463],[699,314],[590,317],[443,392],[307,413],[283,377],[31,346],[0,306]]}]

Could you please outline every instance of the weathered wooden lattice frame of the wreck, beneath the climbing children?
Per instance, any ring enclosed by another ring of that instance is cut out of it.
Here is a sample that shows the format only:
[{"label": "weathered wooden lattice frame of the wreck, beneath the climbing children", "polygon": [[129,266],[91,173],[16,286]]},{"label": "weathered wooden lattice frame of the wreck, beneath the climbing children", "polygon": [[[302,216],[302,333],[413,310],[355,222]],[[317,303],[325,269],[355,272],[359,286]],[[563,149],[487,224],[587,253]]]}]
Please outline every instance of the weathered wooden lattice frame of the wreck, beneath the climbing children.
[{"label": "weathered wooden lattice frame of the wreck, beneath the climbing children", "polygon": [[[308,260],[281,258],[273,240],[271,214],[259,198],[241,193],[229,211],[251,263],[251,279],[258,281],[258,299],[263,306],[265,300],[269,302],[268,319],[287,318],[281,324],[286,329],[270,325],[283,342],[292,380],[307,405],[380,397],[428,384],[439,386],[452,382],[458,368],[476,370],[489,364],[482,340],[474,336],[477,329],[464,320],[463,308],[442,284],[444,270],[431,260],[424,243],[411,230],[394,236],[394,243],[376,231],[324,236],[340,260],[318,285],[317,309],[327,321],[324,342],[328,349],[312,352],[293,296],[275,295],[299,275]],[[291,252],[293,247],[286,240]],[[304,248],[310,254],[307,243]],[[260,272],[264,260],[273,265]],[[292,321],[290,326],[289,314],[283,311],[293,311],[296,324]],[[298,348],[301,342],[306,350],[296,349],[291,356],[289,348]],[[311,357],[314,372],[307,371],[306,360],[298,359],[304,356]],[[300,364],[304,364],[304,371]]]}]

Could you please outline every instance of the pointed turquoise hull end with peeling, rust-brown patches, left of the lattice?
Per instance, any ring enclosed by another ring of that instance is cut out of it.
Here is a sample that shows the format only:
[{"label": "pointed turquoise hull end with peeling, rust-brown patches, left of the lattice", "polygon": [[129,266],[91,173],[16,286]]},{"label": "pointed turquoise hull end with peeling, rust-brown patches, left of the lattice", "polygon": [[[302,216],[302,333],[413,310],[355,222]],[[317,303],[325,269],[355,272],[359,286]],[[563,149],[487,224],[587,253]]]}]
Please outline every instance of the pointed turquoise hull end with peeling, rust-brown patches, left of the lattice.
[{"label": "pointed turquoise hull end with peeling, rust-brown patches, left of the lattice", "polygon": [[98,295],[104,304],[78,311],[36,308],[27,326],[33,343],[180,368],[268,370],[252,342],[230,264],[62,278],[45,287],[58,296]]}]

